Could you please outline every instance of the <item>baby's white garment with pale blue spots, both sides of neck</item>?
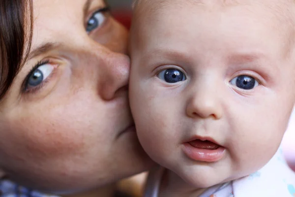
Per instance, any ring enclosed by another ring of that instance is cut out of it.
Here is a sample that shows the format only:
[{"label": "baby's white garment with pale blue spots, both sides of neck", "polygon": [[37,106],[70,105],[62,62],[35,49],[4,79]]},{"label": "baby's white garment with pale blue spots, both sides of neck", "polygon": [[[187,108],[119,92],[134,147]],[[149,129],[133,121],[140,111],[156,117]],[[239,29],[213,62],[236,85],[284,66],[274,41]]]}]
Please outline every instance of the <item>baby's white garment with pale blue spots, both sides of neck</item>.
[{"label": "baby's white garment with pale blue spots, both sides of neck", "polygon": [[[163,167],[150,171],[144,197],[158,197],[164,171]],[[295,197],[295,173],[279,149],[257,172],[212,186],[199,197]]]}]

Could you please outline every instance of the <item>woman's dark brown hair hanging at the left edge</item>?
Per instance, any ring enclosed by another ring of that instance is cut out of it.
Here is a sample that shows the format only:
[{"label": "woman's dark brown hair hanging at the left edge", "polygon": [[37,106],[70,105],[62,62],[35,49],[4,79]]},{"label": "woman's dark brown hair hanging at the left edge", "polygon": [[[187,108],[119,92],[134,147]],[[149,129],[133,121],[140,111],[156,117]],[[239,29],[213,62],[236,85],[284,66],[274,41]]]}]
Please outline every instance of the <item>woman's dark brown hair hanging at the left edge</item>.
[{"label": "woman's dark brown hair hanging at the left edge", "polygon": [[0,99],[29,53],[32,27],[32,0],[0,0]]}]

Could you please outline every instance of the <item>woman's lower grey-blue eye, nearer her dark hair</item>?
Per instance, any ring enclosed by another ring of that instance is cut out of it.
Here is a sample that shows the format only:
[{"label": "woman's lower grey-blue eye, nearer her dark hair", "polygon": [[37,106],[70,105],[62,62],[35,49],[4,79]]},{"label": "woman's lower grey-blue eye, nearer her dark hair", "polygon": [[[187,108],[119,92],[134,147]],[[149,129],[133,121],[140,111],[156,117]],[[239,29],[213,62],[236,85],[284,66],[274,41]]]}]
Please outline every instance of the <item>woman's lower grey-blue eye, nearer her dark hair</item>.
[{"label": "woman's lower grey-blue eye, nearer her dark hair", "polygon": [[42,82],[53,72],[54,66],[44,64],[34,69],[27,80],[26,89],[31,89],[42,84]]}]

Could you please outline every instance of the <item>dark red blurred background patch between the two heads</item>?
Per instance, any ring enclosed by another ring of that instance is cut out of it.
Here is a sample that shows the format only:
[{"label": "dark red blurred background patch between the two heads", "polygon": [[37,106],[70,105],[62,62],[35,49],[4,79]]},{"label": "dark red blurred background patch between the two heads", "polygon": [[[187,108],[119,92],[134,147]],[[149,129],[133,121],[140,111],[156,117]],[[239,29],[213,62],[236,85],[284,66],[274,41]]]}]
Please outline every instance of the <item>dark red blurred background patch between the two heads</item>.
[{"label": "dark red blurred background patch between the two heads", "polygon": [[107,0],[111,6],[112,14],[127,28],[130,27],[132,0]]}]

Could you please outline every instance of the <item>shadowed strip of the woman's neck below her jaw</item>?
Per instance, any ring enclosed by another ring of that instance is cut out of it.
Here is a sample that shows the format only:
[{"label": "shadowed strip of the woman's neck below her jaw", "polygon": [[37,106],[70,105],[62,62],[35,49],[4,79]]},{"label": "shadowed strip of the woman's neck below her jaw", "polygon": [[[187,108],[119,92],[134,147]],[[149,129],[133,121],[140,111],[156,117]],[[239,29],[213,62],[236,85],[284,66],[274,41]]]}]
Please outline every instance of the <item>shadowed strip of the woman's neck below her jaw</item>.
[{"label": "shadowed strip of the woman's neck below her jaw", "polygon": [[62,197],[114,197],[116,184],[100,187],[80,194],[63,195]]}]

